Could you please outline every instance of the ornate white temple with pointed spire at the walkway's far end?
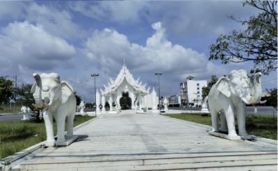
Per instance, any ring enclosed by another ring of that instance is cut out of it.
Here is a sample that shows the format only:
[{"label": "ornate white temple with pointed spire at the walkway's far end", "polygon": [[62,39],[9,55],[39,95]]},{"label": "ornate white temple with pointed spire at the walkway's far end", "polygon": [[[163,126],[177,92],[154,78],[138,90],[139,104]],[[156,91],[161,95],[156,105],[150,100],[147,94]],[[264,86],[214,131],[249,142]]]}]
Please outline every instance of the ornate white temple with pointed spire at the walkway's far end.
[{"label": "ornate white temple with pointed spire at the walkway's far end", "polygon": [[[101,101],[108,100],[109,113],[120,113],[122,109],[132,109],[137,113],[145,113],[148,108],[158,105],[158,97],[152,97],[146,84],[133,79],[125,63],[115,80],[110,79],[108,86],[101,90]],[[157,108],[155,108],[157,111]]]}]

